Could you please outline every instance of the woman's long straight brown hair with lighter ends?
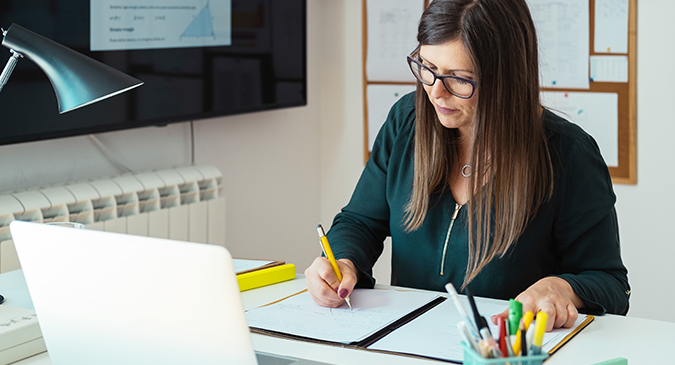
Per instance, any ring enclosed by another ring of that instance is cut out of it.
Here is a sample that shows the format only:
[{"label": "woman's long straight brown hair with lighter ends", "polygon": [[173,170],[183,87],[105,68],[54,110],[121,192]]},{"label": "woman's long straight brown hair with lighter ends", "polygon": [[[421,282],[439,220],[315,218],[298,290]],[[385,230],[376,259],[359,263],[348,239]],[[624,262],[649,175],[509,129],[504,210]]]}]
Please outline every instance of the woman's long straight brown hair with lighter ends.
[{"label": "woman's long straight brown hair with lighter ends", "polygon": [[[553,191],[539,100],[537,36],[525,0],[434,0],[422,15],[420,45],[461,40],[478,81],[467,204],[466,286],[516,243]],[[459,164],[458,133],[443,127],[418,82],[413,190],[408,231],[419,228],[434,192],[449,189]]]}]

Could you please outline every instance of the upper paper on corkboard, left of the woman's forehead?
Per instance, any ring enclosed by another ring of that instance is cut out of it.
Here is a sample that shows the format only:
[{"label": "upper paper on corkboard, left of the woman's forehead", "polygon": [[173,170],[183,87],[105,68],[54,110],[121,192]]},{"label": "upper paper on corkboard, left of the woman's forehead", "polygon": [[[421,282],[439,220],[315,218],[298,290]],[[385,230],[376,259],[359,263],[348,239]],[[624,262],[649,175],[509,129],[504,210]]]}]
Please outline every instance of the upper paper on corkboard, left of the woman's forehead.
[{"label": "upper paper on corkboard, left of the woman's forehead", "polygon": [[414,82],[406,56],[417,46],[422,0],[368,0],[366,78]]}]

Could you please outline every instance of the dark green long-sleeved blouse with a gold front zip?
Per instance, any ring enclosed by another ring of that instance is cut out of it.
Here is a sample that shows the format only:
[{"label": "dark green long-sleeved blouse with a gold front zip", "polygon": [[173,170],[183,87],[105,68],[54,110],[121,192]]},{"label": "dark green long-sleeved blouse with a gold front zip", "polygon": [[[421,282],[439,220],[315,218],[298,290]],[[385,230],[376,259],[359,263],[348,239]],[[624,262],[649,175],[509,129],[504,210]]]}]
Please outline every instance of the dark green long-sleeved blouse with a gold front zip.
[{"label": "dark green long-sleeved blouse with a gold front zip", "polygon": [[[360,270],[359,287],[372,287],[372,266],[392,237],[392,285],[443,291],[459,288],[468,260],[466,210],[443,246],[455,210],[448,191],[431,197],[422,226],[405,232],[403,219],[413,181],[414,93],[389,112],[349,204],[328,238],[336,258]],[[469,284],[478,296],[515,298],[537,280],[567,280],[586,304],[583,312],[625,314],[630,286],[621,261],[612,182],[597,144],[577,125],[544,112],[554,168],[553,197],[541,206],[516,245],[491,261]]]}]

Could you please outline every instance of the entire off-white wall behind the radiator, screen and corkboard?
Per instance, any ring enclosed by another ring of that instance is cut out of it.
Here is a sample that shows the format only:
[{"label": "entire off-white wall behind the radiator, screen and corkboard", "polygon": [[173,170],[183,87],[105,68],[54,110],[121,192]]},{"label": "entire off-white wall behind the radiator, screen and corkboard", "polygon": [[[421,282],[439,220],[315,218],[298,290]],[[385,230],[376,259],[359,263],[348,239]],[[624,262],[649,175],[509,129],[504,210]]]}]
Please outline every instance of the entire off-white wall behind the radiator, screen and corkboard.
[{"label": "entire off-white wall behind the radiator, screen and corkboard", "polygon": [[[316,224],[330,225],[363,167],[361,0],[308,5],[308,106],[194,123],[196,162],[224,174],[228,248],[299,272],[320,251]],[[638,184],[615,190],[629,315],[675,322],[667,310],[675,302],[673,12],[673,2],[638,3]],[[99,138],[137,170],[190,163],[186,123]],[[121,172],[87,137],[2,146],[0,171],[0,191]]]}]

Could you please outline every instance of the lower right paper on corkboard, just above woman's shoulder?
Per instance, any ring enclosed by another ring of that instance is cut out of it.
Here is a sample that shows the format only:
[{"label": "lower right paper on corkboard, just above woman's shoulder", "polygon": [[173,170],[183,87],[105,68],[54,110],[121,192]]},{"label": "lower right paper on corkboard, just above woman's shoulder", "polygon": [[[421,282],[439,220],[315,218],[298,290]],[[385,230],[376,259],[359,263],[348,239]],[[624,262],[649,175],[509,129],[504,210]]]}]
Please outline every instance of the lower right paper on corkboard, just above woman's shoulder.
[{"label": "lower right paper on corkboard, just above woman's shoulder", "polygon": [[593,136],[607,166],[619,166],[618,94],[542,92],[541,101]]}]

